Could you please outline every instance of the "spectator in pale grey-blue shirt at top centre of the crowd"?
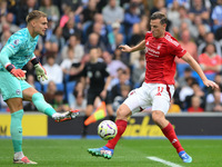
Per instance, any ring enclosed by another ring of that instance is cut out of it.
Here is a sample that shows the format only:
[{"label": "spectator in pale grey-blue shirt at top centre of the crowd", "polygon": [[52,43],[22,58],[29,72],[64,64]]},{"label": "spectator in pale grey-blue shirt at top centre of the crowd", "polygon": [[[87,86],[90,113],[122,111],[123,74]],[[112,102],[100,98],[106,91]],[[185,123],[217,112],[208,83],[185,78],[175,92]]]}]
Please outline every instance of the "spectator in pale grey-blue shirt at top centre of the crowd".
[{"label": "spectator in pale grey-blue shirt at top centre of the crowd", "polygon": [[124,11],[117,4],[117,0],[109,0],[108,4],[102,9],[102,16],[107,24],[121,23],[124,18]]}]

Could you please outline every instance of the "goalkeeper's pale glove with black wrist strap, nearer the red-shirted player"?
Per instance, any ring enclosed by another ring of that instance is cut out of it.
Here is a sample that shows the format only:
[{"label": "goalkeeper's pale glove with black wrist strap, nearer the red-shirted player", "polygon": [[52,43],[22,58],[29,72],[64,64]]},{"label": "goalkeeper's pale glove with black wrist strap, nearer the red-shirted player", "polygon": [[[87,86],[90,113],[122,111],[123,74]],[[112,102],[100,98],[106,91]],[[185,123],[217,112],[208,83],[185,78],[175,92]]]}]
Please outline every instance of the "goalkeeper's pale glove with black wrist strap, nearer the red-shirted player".
[{"label": "goalkeeper's pale glove with black wrist strap, nearer the red-shirted player", "polygon": [[34,58],[31,60],[31,62],[33,63],[33,66],[36,68],[37,79],[40,80],[40,78],[42,78],[42,81],[48,80],[47,71],[41,66],[39,60],[37,58]]}]

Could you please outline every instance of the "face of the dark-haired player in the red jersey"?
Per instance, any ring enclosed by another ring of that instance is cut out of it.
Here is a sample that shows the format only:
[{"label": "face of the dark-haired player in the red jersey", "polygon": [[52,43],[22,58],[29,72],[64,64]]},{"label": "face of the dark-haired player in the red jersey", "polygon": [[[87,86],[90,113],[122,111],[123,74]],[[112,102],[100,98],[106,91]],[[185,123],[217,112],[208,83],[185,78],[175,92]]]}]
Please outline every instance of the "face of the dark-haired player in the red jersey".
[{"label": "face of the dark-haired player in the red jersey", "polygon": [[151,32],[154,38],[162,38],[164,37],[165,27],[167,24],[161,24],[160,19],[151,20],[150,21]]}]

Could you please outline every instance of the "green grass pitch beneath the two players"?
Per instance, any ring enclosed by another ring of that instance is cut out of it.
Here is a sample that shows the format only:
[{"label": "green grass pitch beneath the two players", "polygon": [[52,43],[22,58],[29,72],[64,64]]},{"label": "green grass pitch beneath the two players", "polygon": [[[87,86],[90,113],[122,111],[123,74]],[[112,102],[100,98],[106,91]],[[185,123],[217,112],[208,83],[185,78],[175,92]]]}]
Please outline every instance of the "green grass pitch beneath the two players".
[{"label": "green grass pitch beneath the two players", "polygon": [[[164,167],[147,157],[158,157],[183,167],[221,167],[222,140],[181,139],[192,156],[192,164],[184,164],[167,139],[121,139],[112,159],[93,157],[88,148],[101,147],[102,139],[23,139],[23,153],[40,167]],[[12,164],[12,143],[0,139],[0,166]],[[29,165],[24,165],[29,166]],[[32,165],[33,166],[33,165]]]}]

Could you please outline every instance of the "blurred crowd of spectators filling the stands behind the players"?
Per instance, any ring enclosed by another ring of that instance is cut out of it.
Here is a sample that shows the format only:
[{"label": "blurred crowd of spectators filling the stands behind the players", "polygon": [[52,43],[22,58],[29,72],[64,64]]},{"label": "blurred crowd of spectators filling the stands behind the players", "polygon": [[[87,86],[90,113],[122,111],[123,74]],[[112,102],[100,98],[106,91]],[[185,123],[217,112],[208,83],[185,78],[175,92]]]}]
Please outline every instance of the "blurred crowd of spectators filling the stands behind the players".
[{"label": "blurred crowd of spectators filling the stands behind the players", "polygon": [[[12,33],[26,28],[26,17],[32,10],[48,14],[49,28],[34,53],[49,80],[39,82],[29,62],[24,67],[27,81],[57,111],[78,108],[84,112],[89,82],[82,82],[82,70],[94,47],[99,48],[98,61],[107,63],[112,78],[107,96],[113,110],[141,86],[145,52],[124,53],[118,46],[143,40],[155,11],[167,14],[167,30],[206,77],[220,85],[219,90],[204,87],[186,62],[175,59],[175,94],[169,112],[222,111],[222,0],[0,0],[0,49]],[[0,110],[7,111],[1,96],[0,100]],[[37,110],[30,102],[23,107]]]}]

